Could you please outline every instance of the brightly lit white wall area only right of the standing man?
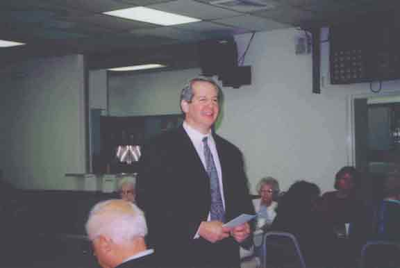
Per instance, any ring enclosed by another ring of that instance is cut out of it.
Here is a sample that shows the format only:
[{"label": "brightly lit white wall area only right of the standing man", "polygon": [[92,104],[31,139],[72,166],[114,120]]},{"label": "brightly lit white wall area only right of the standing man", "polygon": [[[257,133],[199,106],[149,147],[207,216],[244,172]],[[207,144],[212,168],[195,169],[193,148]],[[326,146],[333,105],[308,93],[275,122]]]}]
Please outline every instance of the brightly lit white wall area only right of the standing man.
[{"label": "brightly lit white wall area only right of the standing man", "polygon": [[[243,150],[253,188],[258,178],[274,176],[283,190],[298,179],[329,190],[335,171],[347,165],[346,94],[312,93],[312,58],[294,53],[296,35],[256,34],[245,58],[252,84],[225,91],[220,133]],[[248,40],[242,35],[238,43]]]}]

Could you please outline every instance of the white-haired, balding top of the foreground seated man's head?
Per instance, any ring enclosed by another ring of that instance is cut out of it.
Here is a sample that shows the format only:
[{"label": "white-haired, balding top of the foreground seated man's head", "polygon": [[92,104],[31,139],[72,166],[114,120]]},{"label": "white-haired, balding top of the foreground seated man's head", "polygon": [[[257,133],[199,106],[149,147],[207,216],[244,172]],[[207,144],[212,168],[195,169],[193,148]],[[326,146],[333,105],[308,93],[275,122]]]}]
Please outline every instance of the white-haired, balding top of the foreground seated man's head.
[{"label": "white-haired, balding top of the foreground seated man's head", "polygon": [[85,227],[90,240],[104,235],[117,244],[125,244],[147,235],[147,224],[142,210],[121,199],[97,203],[90,210]]}]

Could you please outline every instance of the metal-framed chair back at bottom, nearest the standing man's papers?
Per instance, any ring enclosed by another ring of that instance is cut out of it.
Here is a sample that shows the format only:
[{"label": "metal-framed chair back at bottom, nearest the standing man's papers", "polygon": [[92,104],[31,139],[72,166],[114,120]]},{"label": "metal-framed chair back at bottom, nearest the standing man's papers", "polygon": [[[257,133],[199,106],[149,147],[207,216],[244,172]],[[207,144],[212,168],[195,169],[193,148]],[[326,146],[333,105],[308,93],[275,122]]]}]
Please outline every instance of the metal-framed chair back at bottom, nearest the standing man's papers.
[{"label": "metal-framed chair back at bottom, nearest the standing man's papers", "polygon": [[262,267],[306,268],[296,237],[286,232],[267,232],[263,238]]}]

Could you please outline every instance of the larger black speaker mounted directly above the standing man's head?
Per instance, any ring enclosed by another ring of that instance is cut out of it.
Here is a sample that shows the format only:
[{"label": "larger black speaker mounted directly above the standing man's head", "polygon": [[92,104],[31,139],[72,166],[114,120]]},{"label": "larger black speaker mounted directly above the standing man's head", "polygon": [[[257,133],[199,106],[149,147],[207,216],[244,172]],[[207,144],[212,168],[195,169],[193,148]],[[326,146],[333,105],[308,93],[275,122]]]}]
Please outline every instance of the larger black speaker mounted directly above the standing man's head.
[{"label": "larger black speaker mounted directly above the standing man's head", "polygon": [[199,43],[199,65],[203,76],[214,76],[238,66],[238,48],[233,37]]}]

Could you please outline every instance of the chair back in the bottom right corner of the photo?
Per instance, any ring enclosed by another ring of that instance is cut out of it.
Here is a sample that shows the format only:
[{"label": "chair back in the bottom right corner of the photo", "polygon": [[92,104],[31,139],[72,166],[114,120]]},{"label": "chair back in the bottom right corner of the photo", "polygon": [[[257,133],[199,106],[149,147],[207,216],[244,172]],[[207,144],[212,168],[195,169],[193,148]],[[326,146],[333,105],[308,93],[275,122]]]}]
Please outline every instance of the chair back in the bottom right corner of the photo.
[{"label": "chair back in the bottom right corner of the photo", "polygon": [[371,240],[363,245],[360,268],[400,267],[400,243],[387,240]]}]

